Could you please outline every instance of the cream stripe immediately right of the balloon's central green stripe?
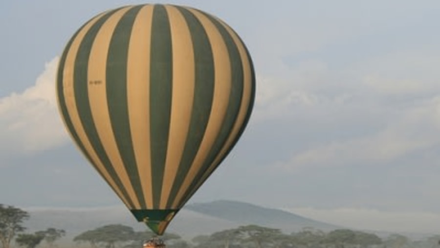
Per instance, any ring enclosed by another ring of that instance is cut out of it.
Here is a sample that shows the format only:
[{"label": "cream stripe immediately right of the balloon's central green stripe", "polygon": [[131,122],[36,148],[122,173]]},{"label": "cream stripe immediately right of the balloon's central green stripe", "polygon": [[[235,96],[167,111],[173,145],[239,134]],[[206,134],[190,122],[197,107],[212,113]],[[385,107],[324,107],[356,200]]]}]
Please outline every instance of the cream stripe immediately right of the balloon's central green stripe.
[{"label": "cream stripe immediately right of the balloon's central green stripe", "polygon": [[191,33],[182,14],[173,6],[166,6],[173,42],[173,93],[170,134],[160,197],[161,209],[166,207],[171,188],[176,180],[180,159],[191,122],[194,100],[195,65]]}]

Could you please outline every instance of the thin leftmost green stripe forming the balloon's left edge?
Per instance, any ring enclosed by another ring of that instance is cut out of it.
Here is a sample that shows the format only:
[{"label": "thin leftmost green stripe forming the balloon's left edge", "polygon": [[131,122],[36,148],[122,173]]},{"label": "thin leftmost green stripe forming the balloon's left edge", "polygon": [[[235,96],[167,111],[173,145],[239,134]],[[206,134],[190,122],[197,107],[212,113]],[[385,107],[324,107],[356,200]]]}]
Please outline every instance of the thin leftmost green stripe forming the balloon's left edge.
[{"label": "thin leftmost green stripe forming the balloon's left edge", "polygon": [[70,39],[70,41],[67,43],[64,52],[61,56],[60,62],[59,62],[59,66],[58,66],[58,75],[57,75],[57,89],[58,89],[58,104],[60,106],[60,112],[61,115],[66,123],[66,128],[68,129],[69,133],[72,135],[73,140],[75,141],[75,143],[77,144],[77,146],[79,147],[79,149],[81,150],[81,152],[84,154],[84,156],[87,158],[87,160],[89,161],[89,163],[91,165],[93,165],[93,167],[95,167],[96,171],[98,171],[98,173],[101,175],[101,177],[104,177],[104,175],[102,174],[101,171],[99,171],[96,167],[96,165],[93,163],[93,160],[90,158],[86,148],[84,147],[83,142],[81,142],[81,139],[79,138],[75,127],[73,126],[72,120],[70,119],[69,113],[67,111],[67,106],[66,106],[66,99],[64,97],[64,88],[63,88],[63,81],[64,81],[64,77],[63,77],[63,73],[64,73],[64,69],[66,66],[66,57],[67,57],[67,53],[70,50],[70,46],[72,45],[73,41],[76,39],[78,33],[89,23],[90,21],[88,21],[87,23],[85,23],[83,26],[81,26],[78,31],[75,32],[75,34],[72,36],[72,38]]}]

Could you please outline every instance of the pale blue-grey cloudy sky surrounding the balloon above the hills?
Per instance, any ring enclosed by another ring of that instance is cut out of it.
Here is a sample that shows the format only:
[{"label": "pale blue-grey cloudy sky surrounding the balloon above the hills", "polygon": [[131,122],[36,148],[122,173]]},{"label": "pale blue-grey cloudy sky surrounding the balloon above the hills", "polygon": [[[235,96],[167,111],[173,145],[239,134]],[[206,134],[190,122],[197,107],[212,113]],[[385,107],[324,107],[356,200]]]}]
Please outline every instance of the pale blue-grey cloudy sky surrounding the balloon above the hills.
[{"label": "pale blue-grey cloudy sky surrounding the balloon above the hills", "polygon": [[[0,203],[122,204],[70,141],[55,71],[84,22],[136,3],[145,2],[0,2]],[[353,228],[440,230],[439,1],[166,3],[232,26],[257,77],[242,139],[191,202],[237,200]]]}]

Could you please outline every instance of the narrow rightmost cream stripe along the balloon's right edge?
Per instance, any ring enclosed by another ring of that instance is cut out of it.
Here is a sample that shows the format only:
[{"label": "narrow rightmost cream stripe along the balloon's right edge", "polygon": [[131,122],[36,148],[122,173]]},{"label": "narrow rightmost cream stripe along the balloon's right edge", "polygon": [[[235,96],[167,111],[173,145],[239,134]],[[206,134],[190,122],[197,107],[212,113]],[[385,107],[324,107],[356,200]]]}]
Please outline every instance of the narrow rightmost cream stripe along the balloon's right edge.
[{"label": "narrow rightmost cream stripe along the balloon's right edge", "polygon": [[225,145],[221,149],[220,153],[217,155],[217,157],[214,160],[214,162],[212,163],[212,165],[208,168],[208,170],[206,170],[206,172],[204,173],[201,180],[199,180],[197,185],[192,189],[192,192],[187,196],[186,199],[183,199],[181,201],[181,205],[179,205],[178,207],[183,206],[183,204],[185,204],[186,201],[188,201],[189,197],[191,197],[191,195],[193,195],[195,193],[195,191],[198,189],[198,187],[200,187],[201,184],[211,175],[213,170],[215,170],[217,168],[217,166],[219,165],[219,163],[221,161],[221,158],[223,158],[223,156],[225,155],[225,153],[227,152],[227,150],[230,148],[230,146],[234,142],[235,138],[237,137],[237,135],[243,125],[244,119],[247,114],[247,110],[249,108],[250,100],[251,100],[251,95],[252,95],[253,89],[252,89],[251,63],[249,61],[250,58],[248,58],[246,50],[244,48],[244,45],[242,44],[240,39],[237,37],[235,32],[227,24],[223,23],[220,19],[216,18],[216,20],[219,21],[227,29],[228,33],[231,35],[231,37],[234,40],[234,43],[237,45],[237,47],[239,49],[240,57],[242,59],[242,66],[243,66],[242,103],[241,103],[239,114],[237,116],[234,127],[232,129],[232,132],[229,135]]}]

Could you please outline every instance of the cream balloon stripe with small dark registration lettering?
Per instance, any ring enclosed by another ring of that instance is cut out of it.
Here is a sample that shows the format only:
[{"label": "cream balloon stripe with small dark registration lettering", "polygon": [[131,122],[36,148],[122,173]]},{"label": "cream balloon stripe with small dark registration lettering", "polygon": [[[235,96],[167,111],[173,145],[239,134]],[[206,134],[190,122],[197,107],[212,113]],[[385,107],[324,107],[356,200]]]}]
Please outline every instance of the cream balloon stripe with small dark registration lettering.
[{"label": "cream balloon stripe with small dark registration lettering", "polygon": [[115,12],[99,29],[93,42],[88,63],[88,81],[101,81],[100,84],[88,84],[88,99],[93,122],[99,135],[99,139],[108,155],[111,165],[115,169],[134,207],[140,208],[139,200],[133,190],[130,178],[125,170],[124,163],[119,154],[118,147],[111,127],[110,113],[107,104],[106,93],[106,68],[107,55],[110,46],[111,35],[121,17],[130,9],[123,8]]}]

